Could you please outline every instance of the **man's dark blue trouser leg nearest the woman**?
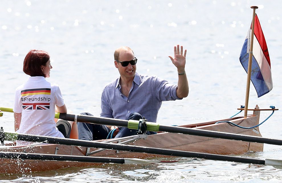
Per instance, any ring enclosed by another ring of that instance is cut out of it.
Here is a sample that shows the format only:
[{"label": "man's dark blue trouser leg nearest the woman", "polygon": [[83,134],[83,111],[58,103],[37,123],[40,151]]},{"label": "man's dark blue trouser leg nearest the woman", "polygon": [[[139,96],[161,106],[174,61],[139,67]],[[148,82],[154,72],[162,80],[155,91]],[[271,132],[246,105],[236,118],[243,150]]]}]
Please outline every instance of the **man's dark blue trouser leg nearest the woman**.
[{"label": "man's dark blue trouser leg nearest the woman", "polygon": [[[80,114],[93,116],[89,112]],[[106,139],[110,129],[106,125],[77,122],[79,140],[101,140]]]}]

